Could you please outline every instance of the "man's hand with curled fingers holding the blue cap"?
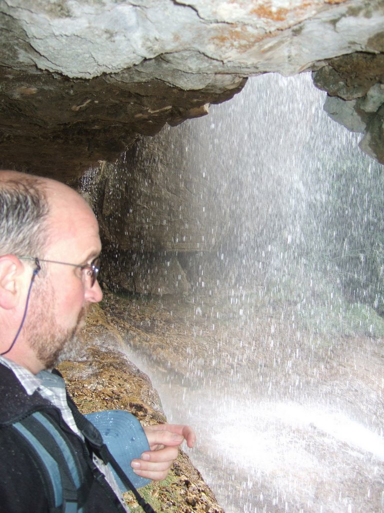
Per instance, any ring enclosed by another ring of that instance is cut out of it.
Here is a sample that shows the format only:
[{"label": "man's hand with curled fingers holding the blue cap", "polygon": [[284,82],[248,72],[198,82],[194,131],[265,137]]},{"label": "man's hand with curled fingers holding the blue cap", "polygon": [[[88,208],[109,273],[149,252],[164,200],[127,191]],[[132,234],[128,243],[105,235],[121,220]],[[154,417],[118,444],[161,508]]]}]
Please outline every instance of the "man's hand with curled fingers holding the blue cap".
[{"label": "man's hand with curled fingers holding the blue cap", "polygon": [[143,426],[143,429],[151,450],[143,452],[140,460],[132,460],[131,466],[138,476],[162,481],[177,458],[179,445],[184,440],[188,447],[195,445],[195,432],[189,426],[177,424]]}]

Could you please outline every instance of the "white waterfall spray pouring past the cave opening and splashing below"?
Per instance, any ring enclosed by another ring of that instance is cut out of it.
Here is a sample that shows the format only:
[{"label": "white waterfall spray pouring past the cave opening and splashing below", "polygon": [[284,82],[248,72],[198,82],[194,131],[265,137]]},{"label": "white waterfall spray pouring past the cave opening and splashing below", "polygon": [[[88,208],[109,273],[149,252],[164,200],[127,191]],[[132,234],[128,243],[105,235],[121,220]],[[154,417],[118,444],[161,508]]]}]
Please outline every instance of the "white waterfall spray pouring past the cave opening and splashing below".
[{"label": "white waterfall spray pouring past the cave opening and splashing below", "polygon": [[139,365],[227,513],[384,511],[384,181],[324,100],[309,75],[260,76],[139,149],[182,148],[226,220],[179,314],[182,378]]}]

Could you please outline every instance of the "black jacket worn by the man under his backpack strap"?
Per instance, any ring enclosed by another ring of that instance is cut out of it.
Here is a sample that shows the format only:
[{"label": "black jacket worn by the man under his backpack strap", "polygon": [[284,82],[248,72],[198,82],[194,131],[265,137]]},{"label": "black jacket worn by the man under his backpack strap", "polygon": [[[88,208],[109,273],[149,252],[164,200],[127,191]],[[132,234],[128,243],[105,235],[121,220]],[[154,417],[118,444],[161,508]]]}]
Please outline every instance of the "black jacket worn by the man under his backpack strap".
[{"label": "black jacket worn by the man under his backpack strap", "polygon": [[[23,448],[14,422],[45,412],[65,431],[79,456],[84,476],[83,513],[125,513],[114,491],[94,465],[86,444],[62,419],[60,410],[40,396],[28,396],[15,375],[0,364],[0,513],[50,513],[41,468]],[[79,504],[79,507],[81,504]]]}]

